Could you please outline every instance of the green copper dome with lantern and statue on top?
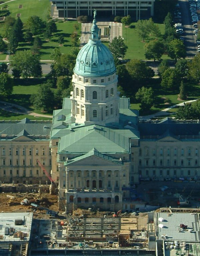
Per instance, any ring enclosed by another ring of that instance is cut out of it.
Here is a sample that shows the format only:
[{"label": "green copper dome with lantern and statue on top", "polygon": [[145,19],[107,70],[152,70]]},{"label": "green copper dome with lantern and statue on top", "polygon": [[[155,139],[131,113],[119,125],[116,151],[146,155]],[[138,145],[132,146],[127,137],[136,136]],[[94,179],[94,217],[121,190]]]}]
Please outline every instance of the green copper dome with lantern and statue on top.
[{"label": "green copper dome with lantern and statue on top", "polygon": [[95,17],[96,11],[94,12],[94,20],[91,27],[91,37],[76,58],[74,72],[80,76],[101,77],[116,72],[110,50],[101,43],[98,37],[99,28],[96,25]]}]

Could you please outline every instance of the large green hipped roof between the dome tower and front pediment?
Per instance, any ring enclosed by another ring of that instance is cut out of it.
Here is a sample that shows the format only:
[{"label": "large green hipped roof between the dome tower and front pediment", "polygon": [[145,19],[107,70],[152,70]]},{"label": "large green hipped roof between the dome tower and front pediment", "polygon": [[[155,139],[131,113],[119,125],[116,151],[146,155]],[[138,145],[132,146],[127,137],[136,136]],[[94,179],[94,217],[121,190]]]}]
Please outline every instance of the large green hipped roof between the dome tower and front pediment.
[{"label": "large green hipped roof between the dome tower and front pediment", "polygon": [[100,125],[79,127],[62,137],[59,152],[89,152],[94,147],[104,153],[130,151],[129,138],[136,138],[130,130],[115,130]]}]

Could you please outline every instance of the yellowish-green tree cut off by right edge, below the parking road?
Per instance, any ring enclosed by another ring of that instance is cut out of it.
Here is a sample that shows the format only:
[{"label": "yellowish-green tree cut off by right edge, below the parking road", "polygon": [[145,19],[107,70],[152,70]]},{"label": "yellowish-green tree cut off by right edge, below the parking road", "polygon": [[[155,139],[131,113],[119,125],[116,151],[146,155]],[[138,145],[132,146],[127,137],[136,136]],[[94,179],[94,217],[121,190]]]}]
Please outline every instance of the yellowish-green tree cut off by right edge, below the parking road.
[{"label": "yellowish-green tree cut off by right edge, below the parking road", "polygon": [[196,82],[200,81],[200,53],[189,63],[189,78]]}]

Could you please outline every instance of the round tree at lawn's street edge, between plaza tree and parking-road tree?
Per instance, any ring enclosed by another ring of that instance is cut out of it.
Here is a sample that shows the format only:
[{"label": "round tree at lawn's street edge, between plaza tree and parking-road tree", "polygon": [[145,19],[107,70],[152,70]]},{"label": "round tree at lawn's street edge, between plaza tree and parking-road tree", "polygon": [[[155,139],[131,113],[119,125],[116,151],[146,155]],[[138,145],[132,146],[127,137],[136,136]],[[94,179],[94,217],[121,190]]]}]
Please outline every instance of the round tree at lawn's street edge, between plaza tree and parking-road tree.
[{"label": "round tree at lawn's street edge, between plaza tree and parking-road tree", "polygon": [[164,45],[158,40],[152,40],[145,44],[145,57],[146,59],[154,59],[154,61],[160,60],[161,56],[164,54]]}]

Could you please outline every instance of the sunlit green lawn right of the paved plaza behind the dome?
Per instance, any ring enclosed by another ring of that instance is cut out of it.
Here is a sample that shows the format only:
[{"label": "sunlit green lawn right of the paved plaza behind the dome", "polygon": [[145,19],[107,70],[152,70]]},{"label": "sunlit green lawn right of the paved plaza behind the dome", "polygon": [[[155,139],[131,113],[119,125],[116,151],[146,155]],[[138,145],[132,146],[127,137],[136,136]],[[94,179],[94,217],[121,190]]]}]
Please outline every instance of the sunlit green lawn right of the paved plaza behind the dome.
[{"label": "sunlit green lawn right of the paved plaza behind the dome", "polygon": [[[124,38],[125,44],[128,46],[126,55],[124,59],[139,59],[139,60],[145,60],[144,56],[144,45],[149,40],[155,39],[155,37],[150,36],[147,41],[142,41],[141,38],[137,35],[136,29],[135,29],[136,22],[131,23],[129,27],[125,27],[123,25],[122,29],[122,35]],[[158,24],[161,33],[164,33],[165,25],[164,24]],[[167,55],[163,55],[162,59],[169,59]]]}]

